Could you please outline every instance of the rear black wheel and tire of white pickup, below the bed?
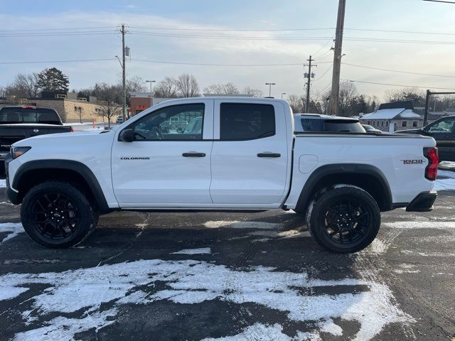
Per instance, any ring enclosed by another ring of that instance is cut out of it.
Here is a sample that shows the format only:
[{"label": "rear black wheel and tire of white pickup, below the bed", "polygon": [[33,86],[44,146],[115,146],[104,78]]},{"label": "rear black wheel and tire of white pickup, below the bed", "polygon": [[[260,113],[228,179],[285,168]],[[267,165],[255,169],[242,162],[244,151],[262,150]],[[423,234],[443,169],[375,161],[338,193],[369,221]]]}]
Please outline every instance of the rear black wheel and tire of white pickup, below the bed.
[{"label": "rear black wheel and tire of white pickup, below the bed", "polygon": [[310,234],[322,247],[351,253],[368,247],[380,227],[378,203],[365,190],[337,185],[321,194],[308,212]]}]

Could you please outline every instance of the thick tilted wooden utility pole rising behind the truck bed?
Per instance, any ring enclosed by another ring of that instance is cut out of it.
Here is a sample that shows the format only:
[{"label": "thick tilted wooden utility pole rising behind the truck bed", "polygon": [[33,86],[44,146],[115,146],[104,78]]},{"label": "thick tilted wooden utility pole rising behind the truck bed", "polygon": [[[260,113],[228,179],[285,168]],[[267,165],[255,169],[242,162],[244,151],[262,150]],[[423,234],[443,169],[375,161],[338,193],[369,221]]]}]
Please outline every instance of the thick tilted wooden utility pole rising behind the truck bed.
[{"label": "thick tilted wooden utility pole rising behind the truck bed", "polygon": [[336,36],[335,50],[333,53],[333,74],[332,74],[332,91],[330,94],[330,112],[336,115],[338,112],[338,95],[340,92],[340,73],[341,73],[341,53],[343,49],[343,29],[344,13],[346,9],[346,0],[338,2],[338,18],[336,19]]}]

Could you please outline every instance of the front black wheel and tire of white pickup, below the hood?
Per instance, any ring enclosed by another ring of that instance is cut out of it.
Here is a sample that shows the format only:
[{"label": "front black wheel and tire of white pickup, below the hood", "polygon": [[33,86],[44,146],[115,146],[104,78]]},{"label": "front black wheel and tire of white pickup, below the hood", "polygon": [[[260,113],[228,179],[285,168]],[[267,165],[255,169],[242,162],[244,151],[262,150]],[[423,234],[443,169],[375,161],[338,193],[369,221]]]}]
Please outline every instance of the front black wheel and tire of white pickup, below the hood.
[{"label": "front black wheel and tire of white pickup, below the hood", "polygon": [[51,181],[31,188],[23,198],[23,228],[44,247],[73,247],[95,228],[98,213],[70,183]]}]

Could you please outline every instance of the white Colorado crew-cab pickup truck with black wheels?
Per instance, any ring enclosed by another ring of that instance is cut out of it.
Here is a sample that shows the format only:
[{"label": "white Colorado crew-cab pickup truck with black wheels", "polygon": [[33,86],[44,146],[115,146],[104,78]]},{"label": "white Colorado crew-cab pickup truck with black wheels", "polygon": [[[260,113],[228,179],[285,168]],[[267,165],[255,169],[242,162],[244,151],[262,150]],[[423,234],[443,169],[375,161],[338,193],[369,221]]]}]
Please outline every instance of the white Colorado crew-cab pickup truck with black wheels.
[{"label": "white Colorado crew-cab pickup truck with black wheels", "polygon": [[[172,117],[202,129],[162,129]],[[353,252],[373,241],[381,211],[432,209],[435,145],[346,129],[294,134],[279,99],[173,99],[113,131],[18,141],[7,193],[46,247],[80,243],[114,210],[292,209],[321,246]]]}]

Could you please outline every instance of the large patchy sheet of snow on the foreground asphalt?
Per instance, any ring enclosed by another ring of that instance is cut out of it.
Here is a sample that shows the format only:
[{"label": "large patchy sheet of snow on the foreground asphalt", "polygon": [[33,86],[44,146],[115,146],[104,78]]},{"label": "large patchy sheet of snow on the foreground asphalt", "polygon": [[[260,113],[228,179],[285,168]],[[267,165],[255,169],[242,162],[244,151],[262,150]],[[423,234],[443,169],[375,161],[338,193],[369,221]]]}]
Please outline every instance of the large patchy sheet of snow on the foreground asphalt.
[{"label": "large patchy sheet of snow on the foreground asphalt", "polygon": [[[165,283],[163,289],[142,290],[145,286],[154,288],[157,281]],[[291,321],[313,325],[316,331],[311,334],[312,340],[317,340],[321,331],[343,334],[342,327],[333,323],[333,318],[358,323],[360,329],[356,340],[370,340],[389,323],[413,322],[395,305],[392,292],[385,284],[354,278],[341,281],[309,279],[304,272],[281,272],[264,266],[236,271],[206,261],[151,259],[60,273],[6,274],[0,276],[0,300],[15,298],[34,283],[46,284],[49,288],[33,296],[29,300],[31,307],[22,315],[25,323],[33,322],[38,315],[41,322],[36,329],[16,334],[14,340],[72,339],[77,332],[113,323],[124,304],[144,305],[161,300],[176,304],[213,300],[255,303],[280,310]],[[333,295],[306,295],[299,290],[330,286],[366,286],[368,289]],[[111,308],[100,309],[102,303],[109,303]],[[77,310],[83,313],[65,317]],[[279,324],[255,324],[235,338],[226,335],[228,338],[224,340],[256,340],[251,338],[255,335],[270,335],[272,340],[309,337],[303,332],[289,337]],[[266,337],[265,340],[269,339]]]}]

